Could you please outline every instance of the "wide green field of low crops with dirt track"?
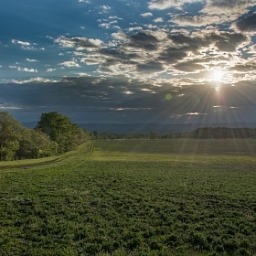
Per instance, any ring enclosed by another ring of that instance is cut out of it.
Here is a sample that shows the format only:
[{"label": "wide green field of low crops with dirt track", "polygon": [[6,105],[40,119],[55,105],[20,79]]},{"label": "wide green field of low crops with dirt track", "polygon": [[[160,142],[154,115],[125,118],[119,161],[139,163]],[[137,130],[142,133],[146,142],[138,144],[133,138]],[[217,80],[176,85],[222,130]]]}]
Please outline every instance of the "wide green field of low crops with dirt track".
[{"label": "wide green field of low crops with dirt track", "polygon": [[256,140],[99,141],[0,163],[0,255],[256,255]]}]

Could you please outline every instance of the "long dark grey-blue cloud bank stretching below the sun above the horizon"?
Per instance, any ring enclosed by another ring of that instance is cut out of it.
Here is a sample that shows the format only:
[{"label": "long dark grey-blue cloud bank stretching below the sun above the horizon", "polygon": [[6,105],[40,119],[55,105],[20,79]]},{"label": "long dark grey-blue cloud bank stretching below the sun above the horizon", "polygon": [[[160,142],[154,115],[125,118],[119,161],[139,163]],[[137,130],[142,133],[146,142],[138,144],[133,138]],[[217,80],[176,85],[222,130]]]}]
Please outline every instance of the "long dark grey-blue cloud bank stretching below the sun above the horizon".
[{"label": "long dark grey-blue cloud bank stretching below the sun above the horizon", "polygon": [[209,84],[196,85],[192,80],[190,85],[177,87],[167,81],[154,86],[150,80],[84,77],[55,83],[1,85],[0,95],[5,95],[1,97],[2,106],[20,116],[27,112],[37,120],[42,112],[58,111],[80,123],[168,123],[172,116],[174,120],[184,116],[186,122],[189,112],[197,112],[208,121],[217,117],[224,121],[223,112],[215,106],[225,107],[225,114],[231,114],[234,108],[250,112],[251,106],[256,106],[253,82],[223,86],[216,91]]}]

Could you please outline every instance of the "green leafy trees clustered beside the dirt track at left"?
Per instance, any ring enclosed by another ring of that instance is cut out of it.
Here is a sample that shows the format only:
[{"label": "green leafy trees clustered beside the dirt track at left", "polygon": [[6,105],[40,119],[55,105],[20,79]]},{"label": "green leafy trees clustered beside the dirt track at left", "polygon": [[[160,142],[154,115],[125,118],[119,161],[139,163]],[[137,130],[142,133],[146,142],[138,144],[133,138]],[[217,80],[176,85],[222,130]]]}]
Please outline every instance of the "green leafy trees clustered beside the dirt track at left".
[{"label": "green leafy trees clustered beside the dirt track at left", "polygon": [[42,113],[35,128],[26,128],[9,112],[0,112],[0,161],[59,155],[90,137],[59,112]]}]

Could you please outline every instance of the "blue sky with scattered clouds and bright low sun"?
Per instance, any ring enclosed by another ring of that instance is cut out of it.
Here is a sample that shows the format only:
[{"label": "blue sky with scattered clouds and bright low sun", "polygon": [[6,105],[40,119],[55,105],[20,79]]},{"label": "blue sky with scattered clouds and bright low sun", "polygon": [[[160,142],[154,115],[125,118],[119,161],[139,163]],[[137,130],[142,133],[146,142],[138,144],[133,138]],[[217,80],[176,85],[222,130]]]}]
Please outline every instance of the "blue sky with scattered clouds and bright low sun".
[{"label": "blue sky with scattered clouds and bright low sun", "polygon": [[0,111],[256,122],[256,1],[1,1]]}]

